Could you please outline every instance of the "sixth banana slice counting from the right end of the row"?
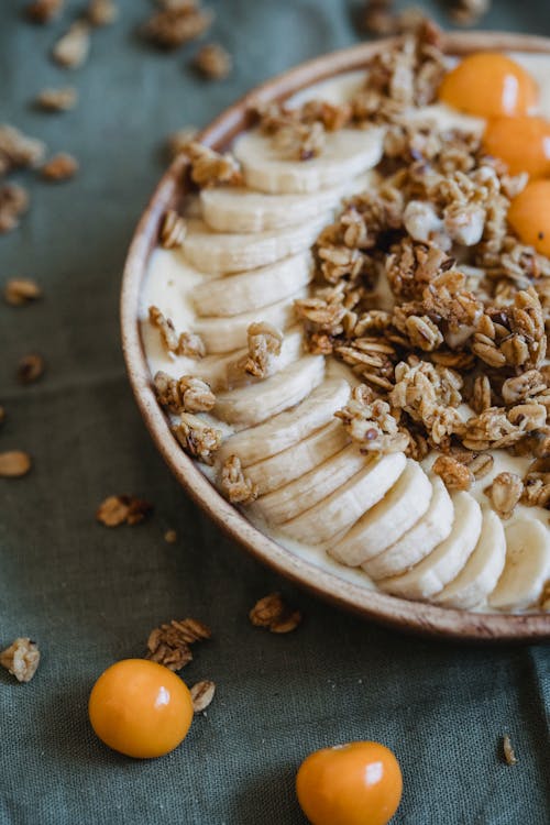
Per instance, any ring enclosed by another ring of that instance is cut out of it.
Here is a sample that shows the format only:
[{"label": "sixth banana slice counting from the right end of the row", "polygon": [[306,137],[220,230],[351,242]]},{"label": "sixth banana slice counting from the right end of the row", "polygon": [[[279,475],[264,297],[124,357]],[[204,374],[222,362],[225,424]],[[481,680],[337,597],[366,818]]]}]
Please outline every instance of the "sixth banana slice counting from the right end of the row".
[{"label": "sixth banana slice counting from the right end of the row", "polygon": [[322,544],[351,527],[393,487],[405,469],[400,452],[367,461],[350,481],[306,513],[280,526],[297,541]]}]

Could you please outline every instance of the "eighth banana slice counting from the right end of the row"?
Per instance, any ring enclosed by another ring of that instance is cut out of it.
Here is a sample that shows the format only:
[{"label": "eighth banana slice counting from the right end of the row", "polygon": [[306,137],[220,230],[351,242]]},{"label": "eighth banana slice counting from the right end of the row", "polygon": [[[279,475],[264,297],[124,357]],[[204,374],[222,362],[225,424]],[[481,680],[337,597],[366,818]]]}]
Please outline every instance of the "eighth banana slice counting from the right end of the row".
[{"label": "eighth banana slice counting from the right end of the row", "polygon": [[246,476],[256,485],[260,496],[309,473],[349,442],[340,421],[331,421],[297,444],[246,468]]}]

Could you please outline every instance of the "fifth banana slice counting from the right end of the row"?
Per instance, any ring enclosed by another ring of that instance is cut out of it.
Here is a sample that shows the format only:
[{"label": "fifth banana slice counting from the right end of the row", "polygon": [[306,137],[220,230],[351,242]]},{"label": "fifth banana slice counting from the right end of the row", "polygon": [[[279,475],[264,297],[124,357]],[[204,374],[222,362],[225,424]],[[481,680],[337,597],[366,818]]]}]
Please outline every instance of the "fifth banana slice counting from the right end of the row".
[{"label": "fifth banana slice counting from the right end of the row", "polygon": [[353,568],[378,556],[425,515],[430,499],[430,480],[418,462],[407,461],[395,486],[330,548],[330,556]]}]

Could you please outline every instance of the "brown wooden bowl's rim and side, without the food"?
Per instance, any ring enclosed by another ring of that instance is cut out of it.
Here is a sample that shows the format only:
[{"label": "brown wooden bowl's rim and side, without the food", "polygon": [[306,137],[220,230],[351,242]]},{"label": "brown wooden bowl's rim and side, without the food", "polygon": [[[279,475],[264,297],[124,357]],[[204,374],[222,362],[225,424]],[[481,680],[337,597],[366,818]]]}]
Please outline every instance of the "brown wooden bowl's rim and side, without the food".
[{"label": "brown wooden bowl's rim and side, without the food", "polygon": [[[222,148],[249,125],[246,111],[252,102],[280,100],[312,82],[361,69],[375,52],[393,44],[393,40],[364,43],[304,63],[253,89],[220,114],[199,139],[210,146]],[[481,50],[550,53],[550,38],[485,32],[449,34],[444,48],[447,53],[458,55]],[[472,640],[549,638],[548,614],[470,613],[409,602],[350,583],[298,558],[253,527],[183,452],[152,389],[138,316],[140,293],[148,256],[157,242],[160,220],[166,209],[178,206],[183,196],[183,168],[184,160],[176,158],[162,177],[138,224],[128,253],[121,294],[122,345],[130,383],[153,440],[182,486],[217,525],[256,559],[319,596],[364,617],[432,636]]]}]

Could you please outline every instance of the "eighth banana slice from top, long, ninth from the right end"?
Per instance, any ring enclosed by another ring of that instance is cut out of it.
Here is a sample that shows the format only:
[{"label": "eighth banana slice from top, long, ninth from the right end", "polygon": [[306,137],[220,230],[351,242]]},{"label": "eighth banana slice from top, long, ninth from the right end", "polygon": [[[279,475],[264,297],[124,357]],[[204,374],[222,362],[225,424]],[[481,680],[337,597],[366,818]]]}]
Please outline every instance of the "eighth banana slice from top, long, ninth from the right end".
[{"label": "eighth banana slice from top, long, ninth from the right end", "polygon": [[349,397],[350,385],[345,378],[329,378],[294,409],[228,438],[217,458],[223,462],[230,455],[239,455],[242,465],[249,466],[276,455],[329,424]]}]

